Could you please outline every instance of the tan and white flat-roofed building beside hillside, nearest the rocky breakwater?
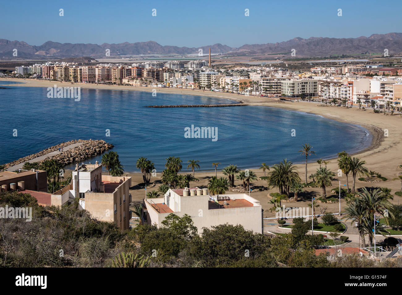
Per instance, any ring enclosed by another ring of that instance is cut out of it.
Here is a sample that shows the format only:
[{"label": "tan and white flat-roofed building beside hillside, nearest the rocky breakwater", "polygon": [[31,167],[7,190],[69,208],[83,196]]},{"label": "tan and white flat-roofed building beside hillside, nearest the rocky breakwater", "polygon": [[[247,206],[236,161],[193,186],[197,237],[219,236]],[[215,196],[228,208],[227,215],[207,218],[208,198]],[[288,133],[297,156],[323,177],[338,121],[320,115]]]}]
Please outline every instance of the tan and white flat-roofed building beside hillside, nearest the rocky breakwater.
[{"label": "tan and white flat-roofed building beside hillside, nearest the rocky breakwater", "polygon": [[79,198],[79,208],[94,218],[129,229],[131,177],[102,175],[102,164],[82,164],[72,172],[70,185],[51,195],[52,205],[64,205]]}]

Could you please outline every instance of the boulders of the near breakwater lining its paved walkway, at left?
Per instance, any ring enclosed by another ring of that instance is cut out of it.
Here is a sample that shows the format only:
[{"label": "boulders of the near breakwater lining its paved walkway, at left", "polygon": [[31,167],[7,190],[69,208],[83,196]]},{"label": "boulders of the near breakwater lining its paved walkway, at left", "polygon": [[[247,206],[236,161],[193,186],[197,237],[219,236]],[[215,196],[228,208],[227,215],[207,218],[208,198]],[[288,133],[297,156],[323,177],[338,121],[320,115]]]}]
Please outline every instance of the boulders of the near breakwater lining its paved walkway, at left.
[{"label": "boulders of the near breakwater lining its paved walkway, at left", "polygon": [[[81,144],[80,144],[81,143]],[[104,151],[107,151],[109,149],[113,148],[113,144],[110,144],[108,142],[105,142],[105,140],[71,140],[68,142],[62,142],[60,144],[57,144],[55,146],[51,146],[43,151],[40,151],[39,153],[29,155],[27,157],[23,157],[21,159],[15,160],[13,162],[5,164],[5,169],[12,167],[14,165],[20,164],[20,163],[25,163],[25,162],[33,162],[30,161],[32,159],[35,159],[37,157],[44,156],[48,153],[59,151],[59,149],[64,149],[66,146],[69,146],[71,144],[79,144],[71,149],[68,149],[66,151],[57,153],[57,155],[49,156],[45,158],[44,160],[56,160],[63,166],[75,163],[77,161],[83,161],[85,159],[94,157],[96,155],[102,154]],[[42,160],[42,161],[44,161]],[[42,162],[38,161],[38,162]]]}]

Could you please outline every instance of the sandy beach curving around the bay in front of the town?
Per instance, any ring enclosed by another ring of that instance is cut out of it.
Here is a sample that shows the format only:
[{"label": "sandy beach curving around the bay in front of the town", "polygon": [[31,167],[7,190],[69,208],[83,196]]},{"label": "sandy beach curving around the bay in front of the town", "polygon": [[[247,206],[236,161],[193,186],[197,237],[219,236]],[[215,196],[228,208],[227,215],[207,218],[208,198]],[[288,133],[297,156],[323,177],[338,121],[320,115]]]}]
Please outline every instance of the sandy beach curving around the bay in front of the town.
[{"label": "sandy beach curving around the bay in front of the town", "polygon": [[[0,78],[1,81],[17,81],[22,82],[24,84],[10,84],[10,86],[20,86],[20,87],[53,87],[54,84],[57,86],[80,86],[83,88],[96,88],[96,89],[109,89],[109,90],[133,90],[133,91],[148,91],[151,92],[153,90],[152,87],[133,87],[133,86],[119,86],[119,85],[96,85],[96,84],[84,84],[84,83],[68,83],[68,82],[59,82],[59,81],[43,81],[43,80],[35,80],[35,79],[12,79],[12,78]],[[2,85],[3,87],[6,85]],[[279,103],[277,99],[264,98],[258,96],[242,96],[238,94],[230,94],[230,93],[221,93],[221,92],[210,92],[203,90],[186,90],[186,89],[172,89],[172,88],[157,88],[157,92],[163,93],[172,93],[172,94],[189,94],[189,95],[197,95],[197,96],[209,96],[209,97],[217,97],[217,98],[226,98],[234,101],[242,101],[244,103],[255,105],[255,106],[269,106],[275,108],[283,108],[287,110],[297,110],[301,112],[307,112],[312,114],[317,114],[323,116],[325,118],[330,118],[334,120],[338,120],[341,122],[348,122],[351,124],[357,124],[363,126],[373,135],[373,142],[371,146],[355,155],[355,157],[359,157],[366,161],[365,166],[368,170],[373,170],[375,172],[381,173],[382,176],[386,177],[388,180],[377,183],[365,183],[358,181],[356,179],[356,187],[389,187],[392,189],[392,194],[394,195],[395,191],[400,191],[401,184],[398,180],[392,180],[394,177],[397,177],[397,174],[402,172],[402,169],[398,168],[398,165],[402,165],[402,118],[399,114],[394,116],[384,115],[384,114],[375,114],[373,110],[359,110],[358,108],[343,108],[343,107],[335,107],[335,106],[322,106],[317,103],[309,103],[309,102],[283,102]],[[300,126],[302,128],[302,126]],[[384,130],[388,130],[388,136],[384,136]],[[312,130],[314,132],[314,130]],[[325,140],[325,134],[322,134],[322,140]],[[113,143],[113,142],[111,142]],[[314,142],[308,142],[313,146],[314,150]],[[118,151],[117,151],[118,152]],[[341,151],[339,151],[341,152]],[[133,159],[136,160],[136,159]],[[289,155],[288,160],[291,161],[301,161],[302,156],[299,154]],[[328,163],[327,167],[332,171],[336,172],[338,170],[336,159],[329,159],[330,163]],[[308,164],[308,175],[316,171],[319,167],[317,163],[309,163]],[[183,163],[183,170],[181,173],[191,173],[191,171],[187,171],[187,164]],[[223,167],[219,167],[218,169],[222,169]],[[304,165],[297,165],[297,169],[301,179],[304,179]],[[213,167],[211,166],[211,170]],[[257,176],[263,176],[264,173],[262,170],[254,170]],[[66,173],[68,175],[68,173]],[[125,173],[126,174],[126,173]],[[132,189],[131,194],[133,196],[133,201],[139,203],[142,198],[145,197],[144,189],[136,188],[135,186],[138,183],[142,183],[142,175],[141,173],[128,173],[133,177],[132,181]],[[215,175],[215,172],[197,172],[195,171],[195,177],[200,179],[199,182],[194,183],[195,186],[204,187],[208,183],[208,179]],[[217,173],[218,177],[222,175],[220,171]],[[346,183],[346,177],[339,177],[341,183]],[[155,186],[149,188],[149,190],[157,189],[160,186],[160,173],[158,173],[157,177],[151,177],[151,181],[154,182]],[[304,182],[304,181],[303,181]],[[235,181],[235,184],[240,184],[239,181]],[[255,185],[267,185],[266,181],[256,181]],[[333,186],[331,188],[338,186],[338,181],[332,182]],[[349,185],[351,186],[351,177],[349,177]],[[331,188],[327,188],[327,195],[330,197]],[[320,188],[306,188],[306,191],[315,191],[317,193],[317,197],[321,195]],[[251,196],[260,200],[261,205],[264,209],[264,217],[274,216],[273,213],[269,212],[268,209],[271,205],[268,204],[269,199],[267,197],[267,193],[269,192],[277,192],[277,189],[270,189],[268,191],[253,191]],[[230,192],[228,192],[230,193]],[[334,196],[335,197],[335,196]],[[297,207],[307,207],[308,203],[311,203],[308,200],[300,200],[297,203],[285,203],[289,206]],[[402,198],[394,195],[394,200],[392,203],[402,203]],[[345,205],[345,201],[341,201],[341,207]],[[328,207],[328,211],[338,212],[339,205],[338,203],[333,204],[320,204],[320,207]],[[319,213],[319,208],[316,209],[316,212]]]}]

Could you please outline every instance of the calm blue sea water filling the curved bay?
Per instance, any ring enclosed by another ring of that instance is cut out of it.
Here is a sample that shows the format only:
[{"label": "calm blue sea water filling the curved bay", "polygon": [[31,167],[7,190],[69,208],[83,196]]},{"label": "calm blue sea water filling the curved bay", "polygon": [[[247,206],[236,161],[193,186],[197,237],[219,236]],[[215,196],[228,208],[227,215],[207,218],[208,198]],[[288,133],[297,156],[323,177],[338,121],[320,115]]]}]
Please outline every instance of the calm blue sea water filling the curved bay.
[{"label": "calm blue sea water filling the curved bay", "polygon": [[[0,81],[0,84],[9,84]],[[68,85],[60,85],[68,86]],[[115,145],[125,171],[138,171],[135,162],[146,157],[158,172],[166,158],[200,160],[201,170],[237,164],[240,168],[273,165],[284,158],[302,163],[297,151],[312,144],[309,159],[336,157],[369,146],[371,135],[361,126],[312,114],[262,106],[228,108],[144,108],[155,104],[216,104],[230,100],[191,95],[121,90],[81,89],[81,100],[47,98],[46,87],[5,86],[0,89],[0,163],[37,153],[73,139],[103,139]],[[185,127],[217,127],[217,141],[185,138]],[[13,136],[13,129],[18,136]],[[105,136],[110,129],[110,137]],[[291,130],[295,135],[291,136]],[[100,157],[88,161],[94,163]]]}]

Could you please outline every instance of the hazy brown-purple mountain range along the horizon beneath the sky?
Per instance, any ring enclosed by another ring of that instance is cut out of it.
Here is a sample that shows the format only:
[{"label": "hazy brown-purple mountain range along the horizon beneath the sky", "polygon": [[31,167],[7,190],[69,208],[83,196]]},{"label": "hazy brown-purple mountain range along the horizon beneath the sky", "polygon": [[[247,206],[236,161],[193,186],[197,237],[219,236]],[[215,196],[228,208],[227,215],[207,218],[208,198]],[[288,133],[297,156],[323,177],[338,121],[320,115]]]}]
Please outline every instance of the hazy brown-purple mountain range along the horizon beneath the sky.
[{"label": "hazy brown-purple mountain range along the horizon beneath the sky", "polygon": [[322,57],[329,55],[351,55],[365,52],[384,53],[388,49],[390,55],[402,52],[402,33],[373,34],[370,37],[358,38],[324,38],[300,37],[280,43],[245,44],[240,47],[230,47],[222,44],[207,45],[203,47],[177,47],[162,46],[155,41],[119,44],[84,44],[84,43],[58,43],[47,41],[40,46],[29,45],[24,41],[10,41],[0,39],[0,57],[13,57],[13,49],[17,49],[18,57],[47,58],[47,57],[105,57],[105,52],[110,49],[110,56],[119,55],[146,55],[146,54],[198,54],[199,49],[203,53],[228,53],[228,54],[275,54],[290,55],[292,49],[297,56]]}]

